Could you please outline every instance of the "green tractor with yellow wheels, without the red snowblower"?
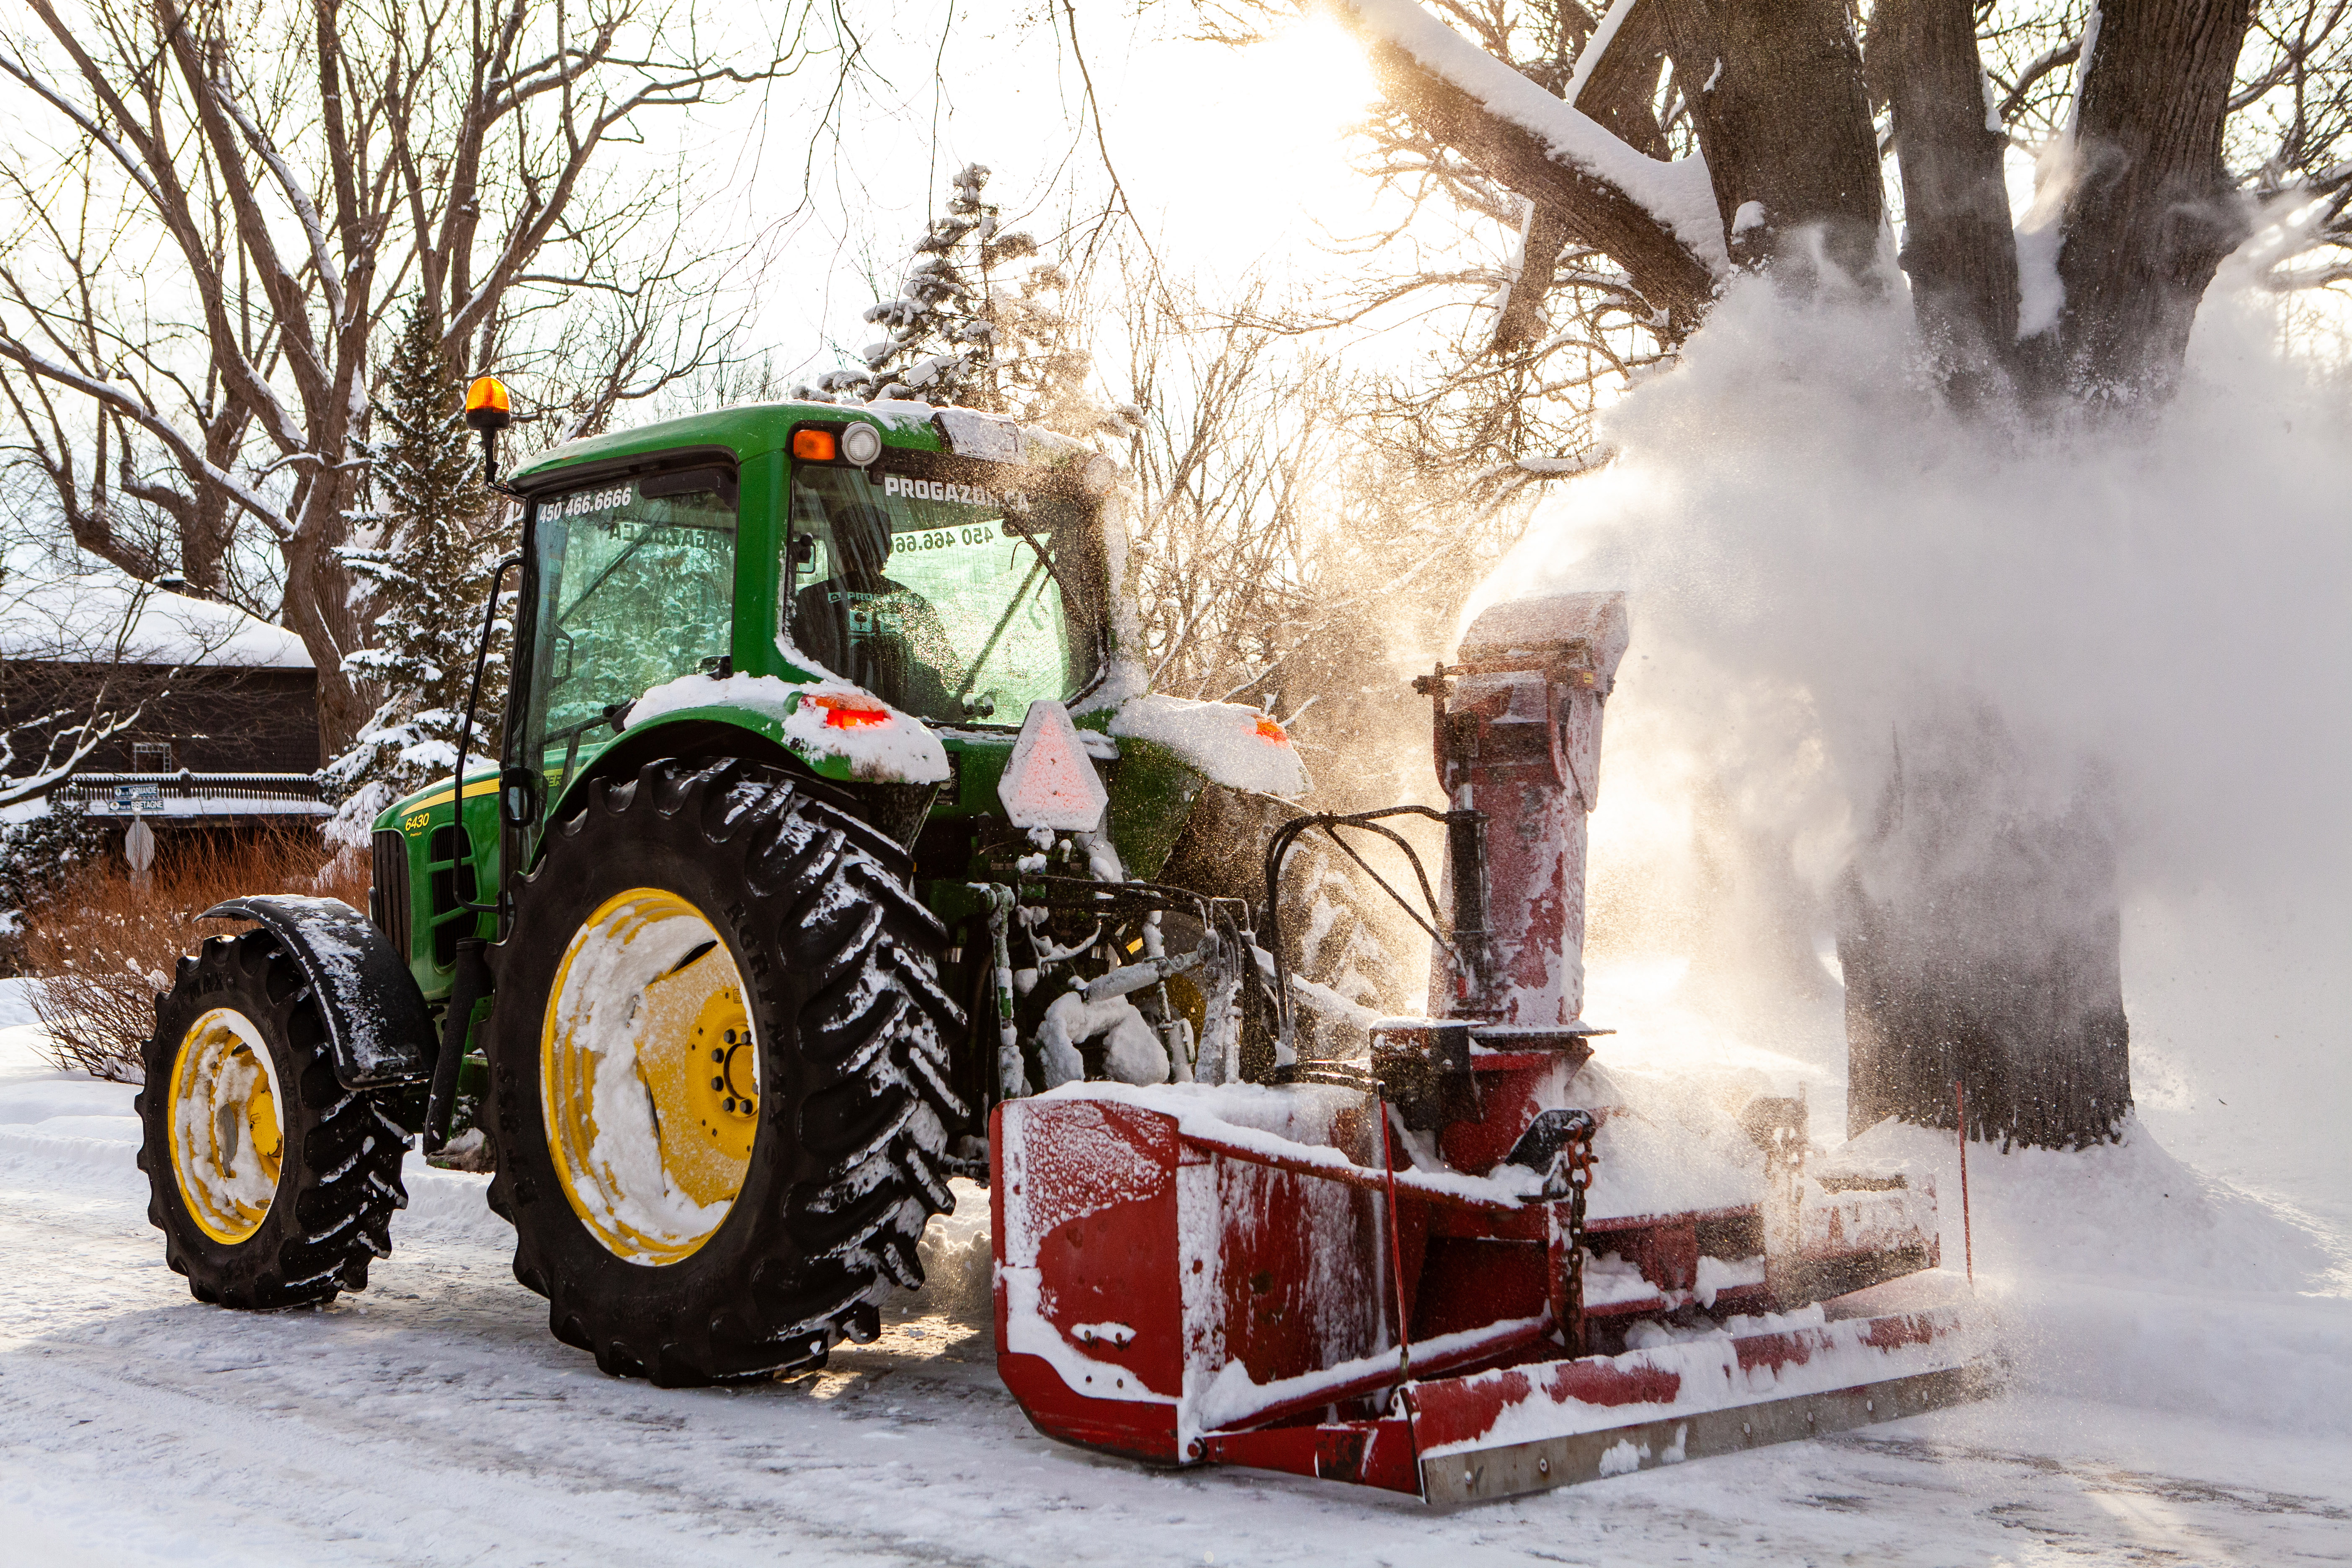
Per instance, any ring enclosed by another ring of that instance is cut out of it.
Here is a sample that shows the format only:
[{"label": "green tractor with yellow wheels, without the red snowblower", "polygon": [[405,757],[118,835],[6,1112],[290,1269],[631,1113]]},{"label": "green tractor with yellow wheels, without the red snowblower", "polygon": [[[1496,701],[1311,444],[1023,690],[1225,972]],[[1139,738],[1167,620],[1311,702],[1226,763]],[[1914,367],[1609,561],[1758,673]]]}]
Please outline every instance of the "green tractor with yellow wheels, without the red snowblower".
[{"label": "green tractor with yellow wheels, without the red snowblower", "polygon": [[[1289,1058],[1251,898],[1305,773],[1265,715],[1145,693],[1105,456],[786,402],[506,489],[499,766],[461,743],[376,820],[367,917],[219,905],[249,929],[158,999],[141,1168],[200,1300],[365,1288],[412,1138],[463,1133],[515,1276],[604,1371],[807,1366],[920,1284],[1000,1100]],[[1395,1011],[1364,978],[1392,966],[1296,945],[1355,976],[1298,987],[1324,1013]]]}]

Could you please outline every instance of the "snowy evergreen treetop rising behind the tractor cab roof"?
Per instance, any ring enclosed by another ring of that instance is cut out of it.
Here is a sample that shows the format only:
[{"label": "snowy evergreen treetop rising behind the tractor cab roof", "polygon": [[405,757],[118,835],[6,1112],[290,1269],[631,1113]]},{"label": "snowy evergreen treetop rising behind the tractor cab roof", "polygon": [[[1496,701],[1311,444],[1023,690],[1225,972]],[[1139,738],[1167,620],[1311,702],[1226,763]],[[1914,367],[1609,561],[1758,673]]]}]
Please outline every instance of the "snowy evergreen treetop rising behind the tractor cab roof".
[{"label": "snowy evergreen treetop rising behind the tractor cab roof", "polygon": [[[898,299],[866,310],[884,327],[858,360],[800,395],[873,402],[903,397],[981,409],[1084,433],[1103,423],[1087,395],[1091,360],[1063,315],[1070,280],[1025,233],[1004,233],[997,202],[981,195],[983,165],[950,181],[948,214],[915,240]],[[1030,263],[1014,277],[1016,263]],[[1124,425],[1115,425],[1124,433]]]}]

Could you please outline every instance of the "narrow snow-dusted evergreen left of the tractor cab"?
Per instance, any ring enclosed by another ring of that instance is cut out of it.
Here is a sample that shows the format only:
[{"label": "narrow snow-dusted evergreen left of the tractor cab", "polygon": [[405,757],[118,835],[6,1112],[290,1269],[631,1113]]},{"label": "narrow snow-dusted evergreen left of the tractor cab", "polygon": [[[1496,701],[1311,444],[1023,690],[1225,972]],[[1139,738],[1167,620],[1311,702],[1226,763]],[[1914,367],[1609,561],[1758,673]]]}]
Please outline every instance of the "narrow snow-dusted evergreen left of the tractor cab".
[{"label": "narrow snow-dusted evergreen left of the tractor cab", "polygon": [[[329,842],[365,846],[390,802],[456,766],[466,689],[482,637],[489,567],[503,548],[501,512],[482,489],[482,454],[466,430],[463,388],[440,350],[440,327],[412,301],[374,404],[369,442],[374,543],[341,550],[372,585],[376,644],[343,658],[383,701],[350,750],[327,764],[341,809]],[[506,691],[506,623],[482,672],[468,766],[496,757]]]}]

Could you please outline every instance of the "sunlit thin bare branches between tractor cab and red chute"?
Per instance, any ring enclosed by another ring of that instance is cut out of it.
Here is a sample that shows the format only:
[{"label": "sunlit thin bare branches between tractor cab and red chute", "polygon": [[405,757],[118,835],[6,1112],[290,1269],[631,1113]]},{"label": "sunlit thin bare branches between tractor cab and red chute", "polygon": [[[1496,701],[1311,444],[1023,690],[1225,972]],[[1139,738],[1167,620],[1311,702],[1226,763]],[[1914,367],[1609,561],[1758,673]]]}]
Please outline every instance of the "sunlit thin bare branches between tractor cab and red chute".
[{"label": "sunlit thin bare branches between tractor cab and red chute", "polygon": [[1367,416],[1383,378],[1305,350],[1277,324],[1296,313],[1263,289],[1232,306],[1131,289],[1120,317],[1129,574],[1152,689],[1265,705],[1334,804],[1411,792],[1418,776],[1381,778],[1364,759],[1428,717],[1374,672],[1435,654],[1519,512],[1463,508],[1442,458]]}]

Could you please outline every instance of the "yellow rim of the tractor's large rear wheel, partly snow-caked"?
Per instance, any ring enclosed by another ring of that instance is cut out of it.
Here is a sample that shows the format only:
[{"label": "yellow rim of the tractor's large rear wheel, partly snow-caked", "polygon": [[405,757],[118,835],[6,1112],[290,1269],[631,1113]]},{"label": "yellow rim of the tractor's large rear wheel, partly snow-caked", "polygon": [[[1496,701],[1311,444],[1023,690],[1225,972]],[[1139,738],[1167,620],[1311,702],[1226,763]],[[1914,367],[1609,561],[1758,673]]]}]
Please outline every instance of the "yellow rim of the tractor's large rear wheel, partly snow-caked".
[{"label": "yellow rim of the tractor's large rear wheel, partly snow-caked", "polygon": [[572,1213],[616,1258],[677,1262],[727,1222],[760,1131],[760,1051],[743,976],[701,910],[628,889],[572,933],[539,1103]]}]

